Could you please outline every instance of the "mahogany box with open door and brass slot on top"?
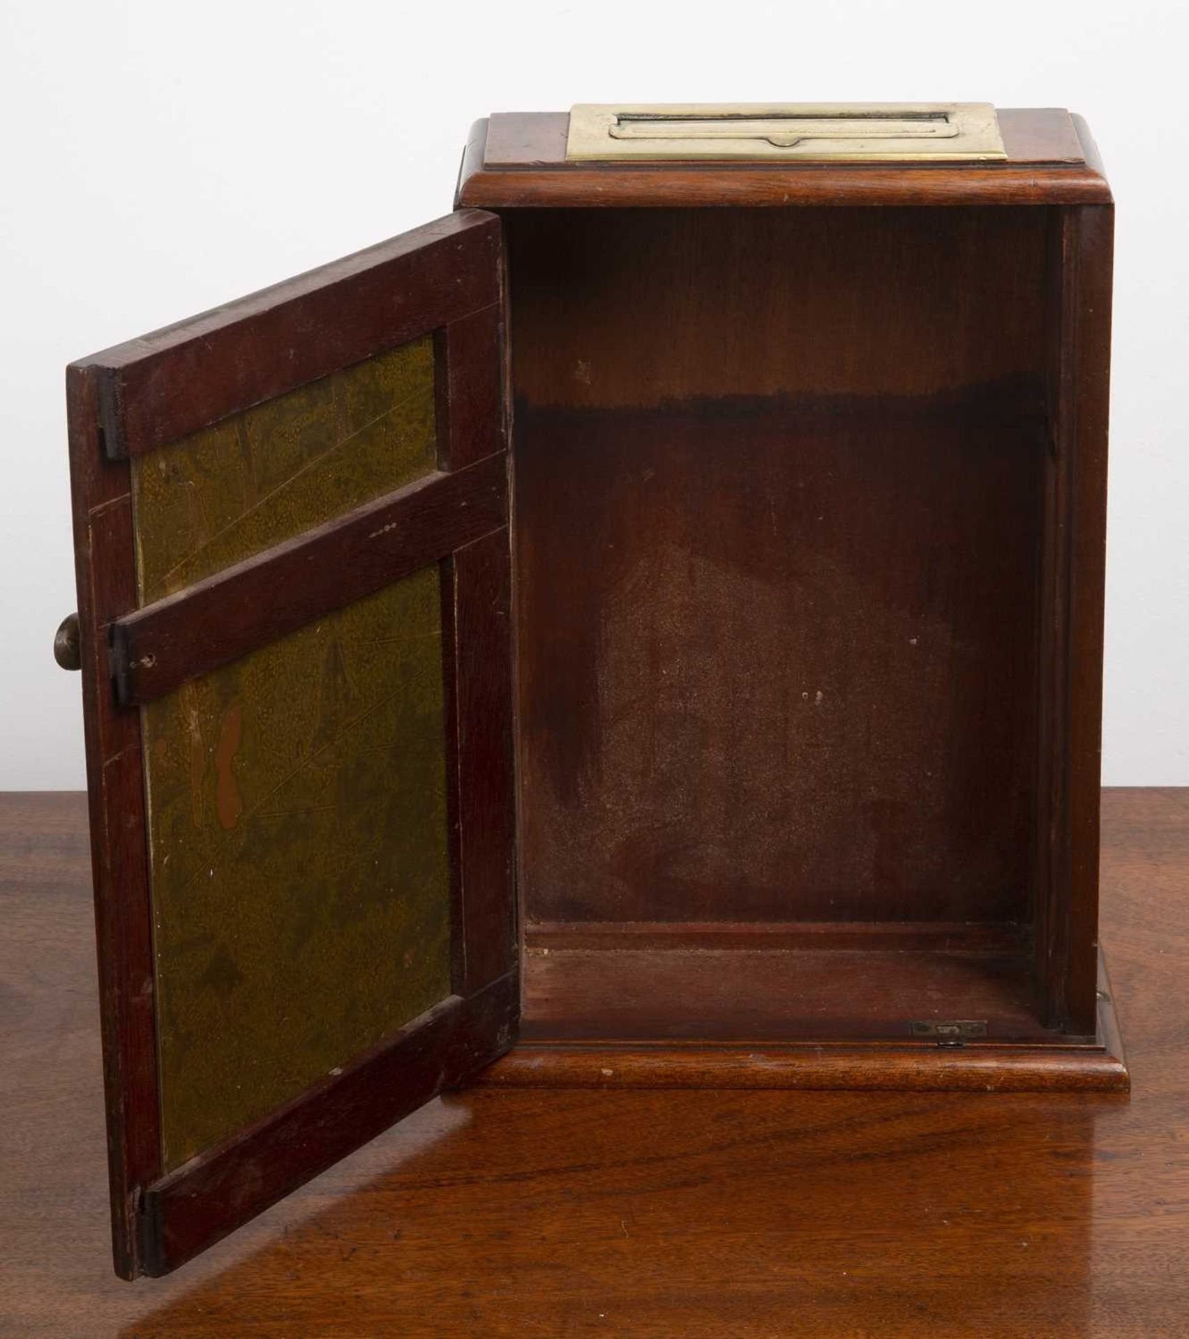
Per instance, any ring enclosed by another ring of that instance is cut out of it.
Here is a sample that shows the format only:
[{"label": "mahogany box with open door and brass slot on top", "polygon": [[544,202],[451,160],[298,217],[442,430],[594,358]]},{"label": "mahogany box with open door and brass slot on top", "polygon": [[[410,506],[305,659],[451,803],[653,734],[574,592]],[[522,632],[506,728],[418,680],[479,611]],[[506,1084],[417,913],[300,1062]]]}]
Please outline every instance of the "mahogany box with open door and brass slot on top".
[{"label": "mahogany box with open door and brass slot on top", "polygon": [[1127,1083],[1085,123],[497,115],[457,206],[68,371],[127,1277],[481,1071]]}]

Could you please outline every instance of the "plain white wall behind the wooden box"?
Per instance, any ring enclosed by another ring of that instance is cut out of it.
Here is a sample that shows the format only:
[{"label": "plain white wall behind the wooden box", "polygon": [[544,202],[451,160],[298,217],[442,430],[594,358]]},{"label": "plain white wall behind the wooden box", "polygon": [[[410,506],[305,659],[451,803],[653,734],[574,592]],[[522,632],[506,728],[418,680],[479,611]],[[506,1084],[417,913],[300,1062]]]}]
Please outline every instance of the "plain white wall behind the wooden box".
[{"label": "plain white wall behind the wooden box", "polygon": [[1066,106],[1118,201],[1103,779],[1189,783],[1184,0],[0,0],[0,789],[84,783],[63,367],[450,209],[573,102]]}]

